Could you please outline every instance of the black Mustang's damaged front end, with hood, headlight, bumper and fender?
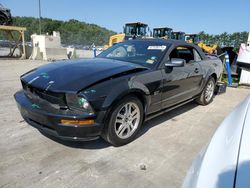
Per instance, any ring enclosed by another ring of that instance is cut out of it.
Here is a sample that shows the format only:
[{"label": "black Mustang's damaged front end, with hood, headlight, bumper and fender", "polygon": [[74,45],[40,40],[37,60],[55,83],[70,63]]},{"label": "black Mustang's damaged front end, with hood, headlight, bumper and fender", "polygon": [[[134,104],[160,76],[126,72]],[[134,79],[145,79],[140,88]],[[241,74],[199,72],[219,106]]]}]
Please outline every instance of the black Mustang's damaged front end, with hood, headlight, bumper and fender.
[{"label": "black Mustang's damaged front end, with hood, headlight, bumper and fender", "polygon": [[[67,140],[93,140],[105,114],[141,66],[96,58],[55,62],[21,76],[15,94],[23,118],[42,132]],[[113,91],[112,91],[113,90]]]}]

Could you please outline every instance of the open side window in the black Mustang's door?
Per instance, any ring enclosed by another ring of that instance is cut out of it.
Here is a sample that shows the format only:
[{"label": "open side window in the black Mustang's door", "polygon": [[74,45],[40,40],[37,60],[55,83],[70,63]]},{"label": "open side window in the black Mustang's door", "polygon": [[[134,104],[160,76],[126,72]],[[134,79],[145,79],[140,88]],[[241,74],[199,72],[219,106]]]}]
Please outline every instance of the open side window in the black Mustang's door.
[{"label": "open side window in the black Mustang's door", "polygon": [[182,47],[179,46],[175,48],[170,54],[169,58],[180,58],[185,59],[186,63],[189,63],[190,61],[195,60],[194,52],[192,48]]}]

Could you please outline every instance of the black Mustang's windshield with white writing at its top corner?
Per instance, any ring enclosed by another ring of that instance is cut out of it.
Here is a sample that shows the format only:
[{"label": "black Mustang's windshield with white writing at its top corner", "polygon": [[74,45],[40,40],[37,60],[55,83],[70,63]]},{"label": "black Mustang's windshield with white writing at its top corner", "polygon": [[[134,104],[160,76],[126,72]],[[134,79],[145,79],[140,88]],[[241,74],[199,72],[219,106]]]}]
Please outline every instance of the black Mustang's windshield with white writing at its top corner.
[{"label": "black Mustang's windshield with white writing at its top corner", "polygon": [[164,55],[168,43],[159,41],[131,40],[118,43],[103,51],[97,57],[127,61],[152,67]]}]

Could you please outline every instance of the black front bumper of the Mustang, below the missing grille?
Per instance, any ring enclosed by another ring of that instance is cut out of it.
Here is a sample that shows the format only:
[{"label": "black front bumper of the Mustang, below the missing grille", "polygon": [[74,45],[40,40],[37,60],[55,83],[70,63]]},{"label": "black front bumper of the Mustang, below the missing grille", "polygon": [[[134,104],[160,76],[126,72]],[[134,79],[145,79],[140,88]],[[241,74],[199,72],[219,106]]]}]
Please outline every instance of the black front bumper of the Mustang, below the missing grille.
[{"label": "black front bumper of the Mustang, below the missing grille", "polygon": [[[87,141],[98,139],[101,135],[104,112],[99,112],[97,116],[79,115],[72,110],[51,109],[46,107],[37,108],[34,106],[23,91],[17,92],[15,95],[18,109],[24,120],[37,128],[39,131],[57,137],[63,140]],[[34,108],[35,107],[35,108]],[[61,119],[68,120],[84,120],[95,119],[95,123],[91,125],[64,125]]]}]

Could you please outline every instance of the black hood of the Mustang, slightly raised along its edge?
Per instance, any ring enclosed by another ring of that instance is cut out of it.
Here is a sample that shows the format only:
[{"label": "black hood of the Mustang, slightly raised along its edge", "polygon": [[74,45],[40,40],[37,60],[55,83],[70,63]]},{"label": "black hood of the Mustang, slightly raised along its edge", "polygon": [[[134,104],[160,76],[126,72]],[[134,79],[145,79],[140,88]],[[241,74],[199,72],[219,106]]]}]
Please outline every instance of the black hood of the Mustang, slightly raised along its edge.
[{"label": "black hood of the Mustang, slightly raised along its edge", "polygon": [[103,79],[145,67],[112,59],[94,58],[43,65],[21,76],[33,87],[54,92],[77,92]]}]

